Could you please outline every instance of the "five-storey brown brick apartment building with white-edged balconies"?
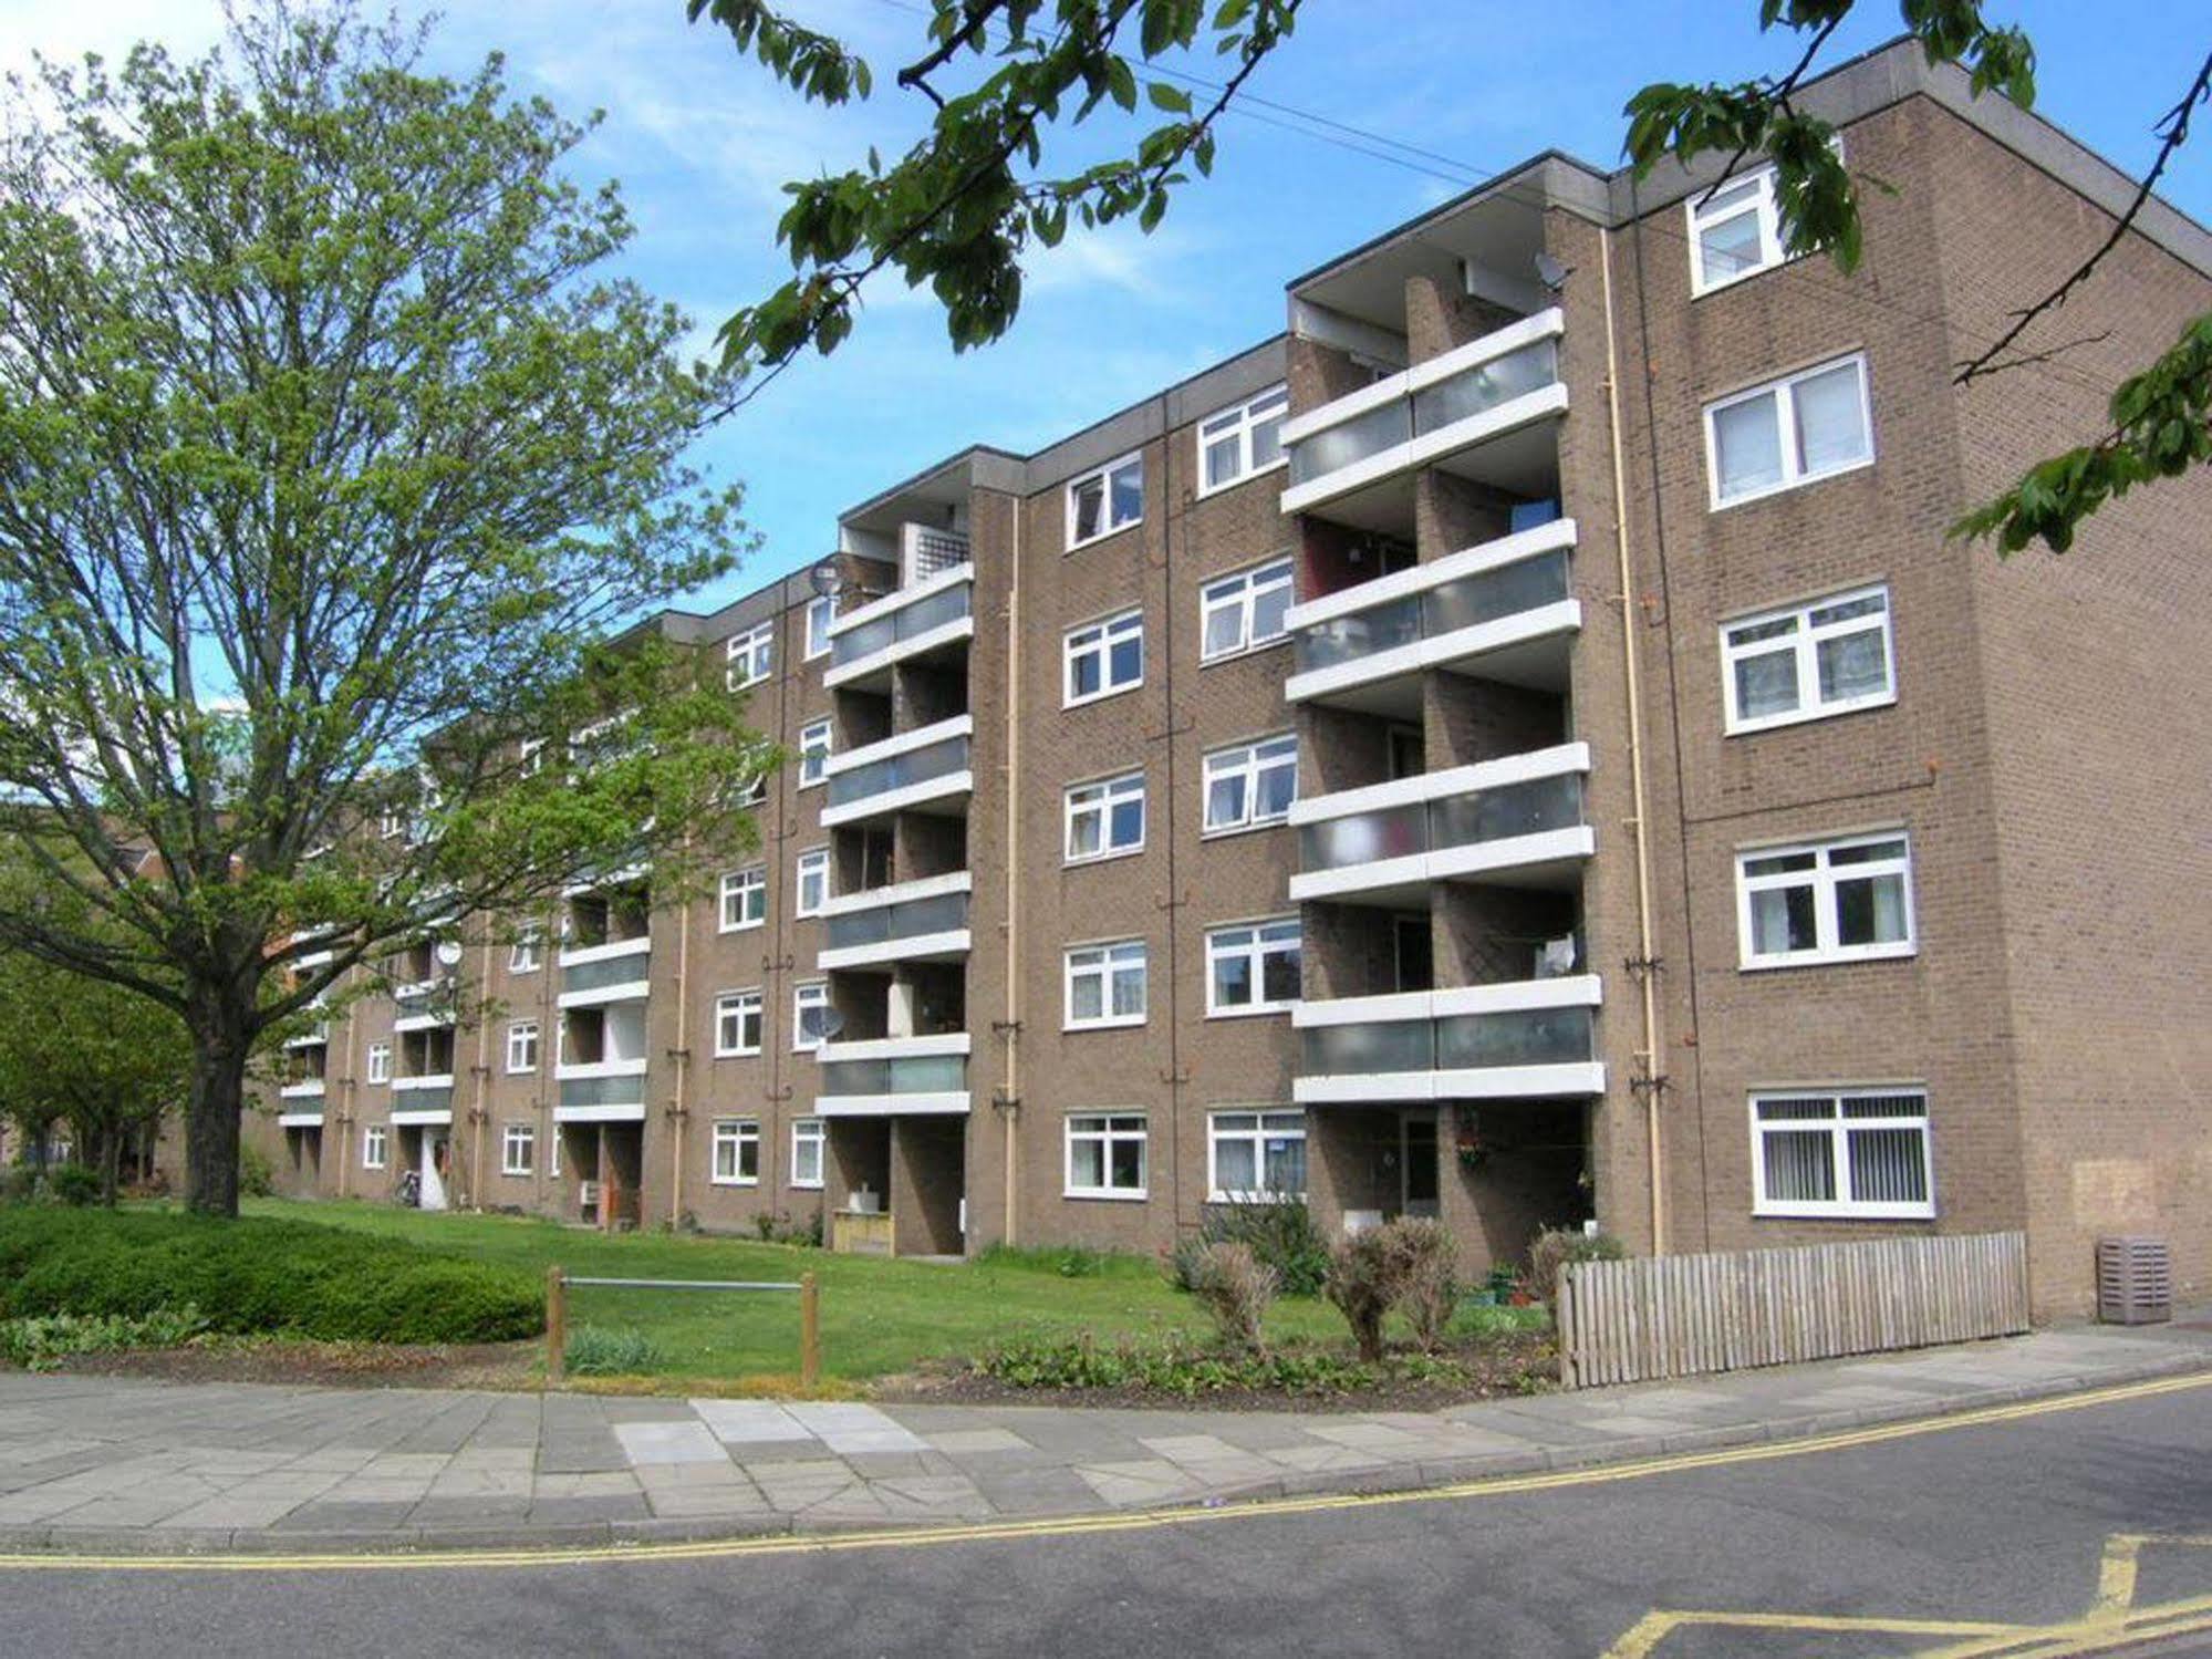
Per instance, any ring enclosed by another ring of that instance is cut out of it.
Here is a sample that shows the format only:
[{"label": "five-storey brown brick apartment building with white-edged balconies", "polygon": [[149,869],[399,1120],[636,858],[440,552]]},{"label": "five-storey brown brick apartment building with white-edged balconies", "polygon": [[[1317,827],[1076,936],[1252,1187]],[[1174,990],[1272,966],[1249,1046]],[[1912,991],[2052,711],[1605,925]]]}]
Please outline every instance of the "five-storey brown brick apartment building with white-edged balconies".
[{"label": "five-storey brown brick apartment building with white-edged balconies", "polygon": [[2044,1312],[2143,1230],[2208,1283],[2212,493],[1944,531],[2212,234],[2152,201],[2084,345],[1958,389],[2130,181],[1905,44],[1805,104],[1896,186],[1854,276],[1763,170],[1544,155],[854,507],[830,593],[659,617],[796,757],[757,860],[416,951],[290,1051],[281,1179],[914,1254],[1285,1190],[1469,1267],[2024,1228]]}]

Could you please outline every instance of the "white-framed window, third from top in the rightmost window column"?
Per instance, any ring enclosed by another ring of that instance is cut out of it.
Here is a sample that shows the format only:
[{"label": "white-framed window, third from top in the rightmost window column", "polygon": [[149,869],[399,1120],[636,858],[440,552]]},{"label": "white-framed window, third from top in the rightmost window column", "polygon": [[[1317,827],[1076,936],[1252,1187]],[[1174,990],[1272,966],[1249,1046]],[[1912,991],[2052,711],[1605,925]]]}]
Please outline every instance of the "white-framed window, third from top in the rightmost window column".
[{"label": "white-framed window, third from top in the rightmost window column", "polygon": [[1721,624],[1728,732],[1898,701],[1889,588],[1838,593]]}]

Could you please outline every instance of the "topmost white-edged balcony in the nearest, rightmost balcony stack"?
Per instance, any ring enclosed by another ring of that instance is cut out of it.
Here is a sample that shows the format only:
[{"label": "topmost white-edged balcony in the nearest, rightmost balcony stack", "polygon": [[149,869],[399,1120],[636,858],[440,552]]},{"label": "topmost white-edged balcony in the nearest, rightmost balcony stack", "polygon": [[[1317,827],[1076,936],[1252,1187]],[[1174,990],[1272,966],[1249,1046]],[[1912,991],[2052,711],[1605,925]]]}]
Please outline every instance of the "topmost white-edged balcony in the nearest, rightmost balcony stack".
[{"label": "topmost white-edged balcony in the nearest, rightmost balcony stack", "polygon": [[1566,414],[1564,330],[1551,307],[1287,420],[1283,511],[1402,524],[1420,467],[1548,495],[1553,422]]}]

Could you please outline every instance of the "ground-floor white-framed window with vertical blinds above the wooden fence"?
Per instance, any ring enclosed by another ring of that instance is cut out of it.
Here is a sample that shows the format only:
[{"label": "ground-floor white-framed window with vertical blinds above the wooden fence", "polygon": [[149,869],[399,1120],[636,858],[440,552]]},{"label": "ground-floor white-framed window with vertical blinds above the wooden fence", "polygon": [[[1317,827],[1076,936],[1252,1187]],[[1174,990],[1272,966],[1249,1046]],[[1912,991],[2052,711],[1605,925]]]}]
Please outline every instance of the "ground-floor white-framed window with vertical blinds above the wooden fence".
[{"label": "ground-floor white-framed window with vertical blinds above the wooden fence", "polygon": [[1752,1095],[1752,1214],[1933,1217],[1927,1093],[1867,1086]]}]

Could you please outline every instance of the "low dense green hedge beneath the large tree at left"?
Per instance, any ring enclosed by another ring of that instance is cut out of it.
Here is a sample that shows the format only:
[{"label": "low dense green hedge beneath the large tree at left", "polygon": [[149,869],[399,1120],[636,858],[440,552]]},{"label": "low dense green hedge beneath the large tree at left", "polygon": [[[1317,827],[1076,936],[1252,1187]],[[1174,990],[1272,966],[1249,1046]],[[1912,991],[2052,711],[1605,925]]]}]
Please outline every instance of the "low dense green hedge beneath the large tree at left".
[{"label": "low dense green hedge beneath the large tree at left", "polygon": [[544,1329],[540,1285],[500,1267],[301,1221],[0,1210],[0,1318],[146,1316],[330,1343],[504,1343]]}]

